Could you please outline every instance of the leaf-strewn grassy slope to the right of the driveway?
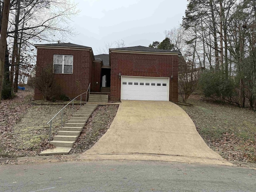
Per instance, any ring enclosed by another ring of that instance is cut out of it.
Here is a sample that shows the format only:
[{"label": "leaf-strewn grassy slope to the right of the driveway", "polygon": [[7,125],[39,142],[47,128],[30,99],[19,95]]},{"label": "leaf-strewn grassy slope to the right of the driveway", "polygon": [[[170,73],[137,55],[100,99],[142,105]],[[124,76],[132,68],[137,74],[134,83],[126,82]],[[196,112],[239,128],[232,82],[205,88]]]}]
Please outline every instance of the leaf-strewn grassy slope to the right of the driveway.
[{"label": "leaf-strewn grassy slope to the right of the driveway", "polygon": [[256,163],[256,112],[230,104],[207,101],[200,95],[190,96],[180,105],[196,124],[196,129],[212,150],[223,158]]}]

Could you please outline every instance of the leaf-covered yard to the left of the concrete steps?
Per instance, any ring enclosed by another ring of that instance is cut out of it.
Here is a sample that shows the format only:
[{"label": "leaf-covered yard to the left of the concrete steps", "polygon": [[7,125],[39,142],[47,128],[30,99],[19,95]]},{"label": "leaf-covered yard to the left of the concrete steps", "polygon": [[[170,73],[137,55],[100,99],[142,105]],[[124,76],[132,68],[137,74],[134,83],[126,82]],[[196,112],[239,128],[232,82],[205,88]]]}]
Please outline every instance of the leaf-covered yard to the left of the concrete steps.
[{"label": "leaf-covered yard to the left of the concrete steps", "polygon": [[[49,124],[47,122],[64,104],[33,105],[30,100],[34,90],[18,90],[16,97],[2,100],[0,106],[0,158],[36,156],[46,148],[52,148],[48,142]],[[74,108],[78,108],[75,105]],[[72,114],[72,106],[64,110],[63,122]],[[61,116],[52,121],[52,136],[61,127]]]}]

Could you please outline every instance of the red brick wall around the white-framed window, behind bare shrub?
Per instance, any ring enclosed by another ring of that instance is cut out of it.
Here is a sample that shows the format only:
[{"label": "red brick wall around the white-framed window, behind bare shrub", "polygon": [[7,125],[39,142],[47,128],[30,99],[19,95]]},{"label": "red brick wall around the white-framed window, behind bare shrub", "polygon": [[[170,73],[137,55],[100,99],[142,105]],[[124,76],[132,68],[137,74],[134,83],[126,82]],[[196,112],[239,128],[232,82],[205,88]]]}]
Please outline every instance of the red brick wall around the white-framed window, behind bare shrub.
[{"label": "red brick wall around the white-framed window, behind bare shrub", "polygon": [[[47,65],[53,67],[54,54],[73,55],[73,74],[55,74],[56,83],[60,87],[59,93],[74,98],[86,92],[89,83],[92,82],[92,58],[90,51],[38,48],[36,76],[40,73],[40,68]],[[36,88],[34,99],[42,99],[42,94]]]}]

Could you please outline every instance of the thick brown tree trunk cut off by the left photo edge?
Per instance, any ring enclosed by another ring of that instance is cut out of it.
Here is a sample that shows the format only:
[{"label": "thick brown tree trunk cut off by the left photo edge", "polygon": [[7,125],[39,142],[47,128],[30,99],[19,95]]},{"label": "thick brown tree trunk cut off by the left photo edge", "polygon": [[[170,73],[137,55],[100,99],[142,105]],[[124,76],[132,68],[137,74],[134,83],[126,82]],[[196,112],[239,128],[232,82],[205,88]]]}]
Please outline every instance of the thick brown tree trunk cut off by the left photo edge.
[{"label": "thick brown tree trunk cut off by the left photo edge", "polygon": [[4,0],[4,11],[2,14],[2,24],[1,24],[1,33],[0,33],[0,104],[1,104],[1,98],[2,98],[4,58],[5,58],[5,50],[6,50],[6,35],[7,35],[9,11],[10,11],[10,0]]}]

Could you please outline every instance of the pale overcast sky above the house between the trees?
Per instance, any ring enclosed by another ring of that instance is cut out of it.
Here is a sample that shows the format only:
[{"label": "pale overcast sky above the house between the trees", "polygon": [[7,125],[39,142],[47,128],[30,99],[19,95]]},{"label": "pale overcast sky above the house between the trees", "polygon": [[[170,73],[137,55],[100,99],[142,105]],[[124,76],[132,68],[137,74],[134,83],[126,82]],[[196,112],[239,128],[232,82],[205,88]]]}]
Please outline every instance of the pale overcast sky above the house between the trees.
[{"label": "pale overcast sky above the house between the trees", "polygon": [[81,10],[72,25],[78,33],[71,43],[92,47],[123,39],[125,46],[148,46],[165,38],[164,30],[178,26],[187,0],[74,0]]}]

